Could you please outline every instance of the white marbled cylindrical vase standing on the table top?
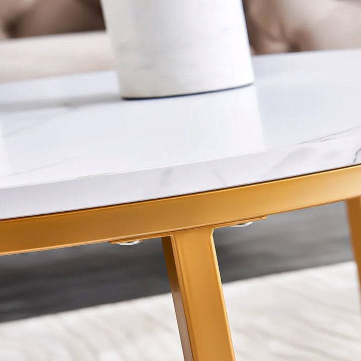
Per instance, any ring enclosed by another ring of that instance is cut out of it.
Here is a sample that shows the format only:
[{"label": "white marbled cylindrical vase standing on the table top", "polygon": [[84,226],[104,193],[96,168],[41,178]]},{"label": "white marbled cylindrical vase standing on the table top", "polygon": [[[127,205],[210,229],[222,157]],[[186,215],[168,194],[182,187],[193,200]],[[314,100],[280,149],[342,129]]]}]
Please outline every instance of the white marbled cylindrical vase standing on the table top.
[{"label": "white marbled cylindrical vase standing on the table top", "polygon": [[241,0],[102,0],[123,98],[253,83]]}]

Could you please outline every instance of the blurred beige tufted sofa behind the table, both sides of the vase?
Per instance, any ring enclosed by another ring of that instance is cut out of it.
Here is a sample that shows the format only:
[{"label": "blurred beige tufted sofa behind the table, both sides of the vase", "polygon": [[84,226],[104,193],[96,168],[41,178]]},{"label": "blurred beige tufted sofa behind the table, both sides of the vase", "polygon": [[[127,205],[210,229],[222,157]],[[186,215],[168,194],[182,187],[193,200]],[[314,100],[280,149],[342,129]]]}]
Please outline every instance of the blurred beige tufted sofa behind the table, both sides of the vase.
[{"label": "blurred beige tufted sofa behind the table, both sides of the vase", "polygon": [[[255,54],[361,47],[361,0],[244,7]],[[80,33],[103,28],[99,0],[0,0],[0,81],[113,68],[105,32]]]}]

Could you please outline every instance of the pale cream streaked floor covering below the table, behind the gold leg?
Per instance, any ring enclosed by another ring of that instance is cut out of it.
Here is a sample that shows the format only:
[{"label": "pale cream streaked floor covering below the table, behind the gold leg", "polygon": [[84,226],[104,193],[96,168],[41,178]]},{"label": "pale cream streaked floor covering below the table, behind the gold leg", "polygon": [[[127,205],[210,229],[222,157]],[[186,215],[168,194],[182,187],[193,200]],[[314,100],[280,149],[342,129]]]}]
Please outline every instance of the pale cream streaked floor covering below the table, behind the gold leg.
[{"label": "pale cream streaked floor covering below the table, behind the gold leg", "polygon": [[[224,285],[238,361],[361,359],[351,262]],[[182,360],[169,294],[0,324],[1,361]]]}]

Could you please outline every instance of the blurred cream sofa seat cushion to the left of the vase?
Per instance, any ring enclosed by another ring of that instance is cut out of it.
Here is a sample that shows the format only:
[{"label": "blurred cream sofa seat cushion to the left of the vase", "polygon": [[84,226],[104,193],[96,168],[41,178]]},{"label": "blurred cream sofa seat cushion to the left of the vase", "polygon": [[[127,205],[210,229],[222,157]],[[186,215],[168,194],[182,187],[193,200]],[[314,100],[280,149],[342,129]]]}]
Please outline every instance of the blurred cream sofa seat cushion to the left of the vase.
[{"label": "blurred cream sofa seat cushion to the left of the vase", "polygon": [[0,42],[0,82],[112,68],[104,31]]}]

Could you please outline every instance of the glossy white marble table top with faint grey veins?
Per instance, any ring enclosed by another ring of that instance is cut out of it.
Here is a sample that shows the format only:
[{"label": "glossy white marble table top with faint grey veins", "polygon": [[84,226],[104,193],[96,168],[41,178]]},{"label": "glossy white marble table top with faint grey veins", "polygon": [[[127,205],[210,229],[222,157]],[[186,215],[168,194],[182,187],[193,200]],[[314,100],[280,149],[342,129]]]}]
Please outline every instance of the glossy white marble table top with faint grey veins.
[{"label": "glossy white marble table top with faint grey veins", "polygon": [[255,86],[166,99],[110,71],[0,84],[0,219],[361,163],[361,50],[253,61]]}]

